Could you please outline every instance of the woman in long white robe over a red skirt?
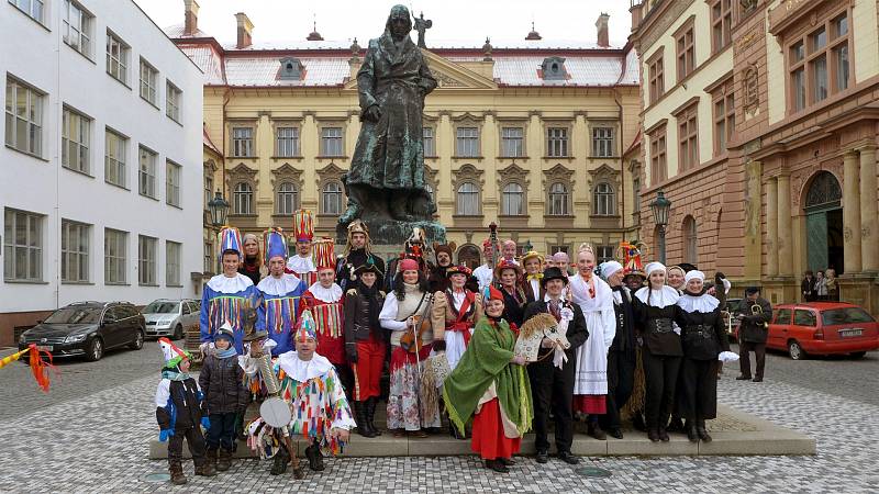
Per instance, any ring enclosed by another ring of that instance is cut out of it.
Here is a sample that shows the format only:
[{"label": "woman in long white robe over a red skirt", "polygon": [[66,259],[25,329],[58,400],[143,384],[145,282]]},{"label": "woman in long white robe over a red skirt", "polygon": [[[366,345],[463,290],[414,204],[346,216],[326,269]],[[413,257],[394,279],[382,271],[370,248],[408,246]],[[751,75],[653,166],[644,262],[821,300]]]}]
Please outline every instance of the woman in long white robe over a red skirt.
[{"label": "woman in long white robe over a red skirt", "polygon": [[[589,328],[589,339],[577,350],[577,380],[574,409],[588,417],[588,434],[604,440],[599,415],[608,413],[608,351],[616,334],[616,313],[610,285],[594,273],[596,254],[589,244],[577,251],[577,274],[569,278],[569,294],[580,306]],[[563,271],[564,272],[564,271]]]}]

